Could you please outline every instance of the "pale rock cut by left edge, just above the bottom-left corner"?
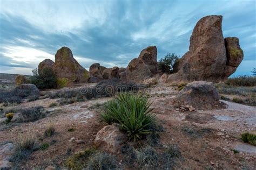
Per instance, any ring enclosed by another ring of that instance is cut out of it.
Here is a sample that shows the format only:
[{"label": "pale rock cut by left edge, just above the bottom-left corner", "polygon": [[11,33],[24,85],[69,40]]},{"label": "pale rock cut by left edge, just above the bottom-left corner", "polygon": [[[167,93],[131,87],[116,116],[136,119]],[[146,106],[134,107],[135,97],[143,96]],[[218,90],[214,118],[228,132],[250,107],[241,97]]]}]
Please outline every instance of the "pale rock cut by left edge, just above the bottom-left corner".
[{"label": "pale rock cut by left edge, just above the bottom-left corner", "polygon": [[12,143],[6,143],[0,146],[0,160],[9,161],[14,153],[15,145]]}]

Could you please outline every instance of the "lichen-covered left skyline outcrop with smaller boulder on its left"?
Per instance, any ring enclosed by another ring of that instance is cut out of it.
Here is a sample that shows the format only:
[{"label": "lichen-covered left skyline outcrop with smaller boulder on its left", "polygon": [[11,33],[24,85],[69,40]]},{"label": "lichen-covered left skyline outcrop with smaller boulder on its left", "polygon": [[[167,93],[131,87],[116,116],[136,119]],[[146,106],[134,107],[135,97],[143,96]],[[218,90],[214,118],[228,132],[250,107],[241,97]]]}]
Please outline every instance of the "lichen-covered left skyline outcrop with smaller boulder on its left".
[{"label": "lichen-covered left skyline outcrop with smaller boulder on its left", "polygon": [[55,54],[55,62],[46,59],[39,63],[38,72],[44,68],[51,68],[58,78],[66,78],[71,82],[86,82],[89,80],[89,72],[83,68],[75,58],[71,49],[62,47]]}]

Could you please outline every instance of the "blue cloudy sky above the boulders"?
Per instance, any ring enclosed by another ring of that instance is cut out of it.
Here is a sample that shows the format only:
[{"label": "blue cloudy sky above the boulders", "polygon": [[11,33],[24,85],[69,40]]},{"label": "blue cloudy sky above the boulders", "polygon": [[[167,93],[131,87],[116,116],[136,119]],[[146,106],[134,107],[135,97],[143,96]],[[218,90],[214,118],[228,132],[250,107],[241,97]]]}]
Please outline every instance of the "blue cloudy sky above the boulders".
[{"label": "blue cloudy sky above the boulders", "polygon": [[31,74],[62,46],[85,68],[126,67],[150,45],[158,60],[182,56],[197,21],[223,16],[224,37],[238,37],[244,60],[232,76],[256,67],[256,3],[248,1],[0,0],[0,73]]}]

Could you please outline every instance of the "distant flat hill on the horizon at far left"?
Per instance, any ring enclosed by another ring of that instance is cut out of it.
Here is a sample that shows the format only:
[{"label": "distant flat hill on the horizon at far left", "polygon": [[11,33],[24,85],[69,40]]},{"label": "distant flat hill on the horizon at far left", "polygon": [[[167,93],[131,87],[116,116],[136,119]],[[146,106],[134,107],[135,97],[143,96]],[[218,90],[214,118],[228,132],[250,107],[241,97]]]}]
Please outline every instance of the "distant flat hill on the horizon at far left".
[{"label": "distant flat hill on the horizon at far left", "polygon": [[[6,74],[0,73],[0,89],[13,89],[15,88],[15,78],[18,74]],[[24,75],[26,79],[30,78],[30,75]]]}]

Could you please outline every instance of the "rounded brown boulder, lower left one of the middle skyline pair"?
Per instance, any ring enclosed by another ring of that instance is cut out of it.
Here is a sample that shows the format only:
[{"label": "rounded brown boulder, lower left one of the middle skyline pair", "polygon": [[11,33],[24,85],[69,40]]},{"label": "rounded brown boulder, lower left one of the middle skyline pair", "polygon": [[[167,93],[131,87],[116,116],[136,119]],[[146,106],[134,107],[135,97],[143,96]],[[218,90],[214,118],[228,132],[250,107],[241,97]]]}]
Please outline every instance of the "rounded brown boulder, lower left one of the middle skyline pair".
[{"label": "rounded brown boulder, lower left one of the middle skyline pair", "polygon": [[126,79],[130,82],[142,83],[151,76],[150,68],[143,60],[133,59],[126,68]]}]

